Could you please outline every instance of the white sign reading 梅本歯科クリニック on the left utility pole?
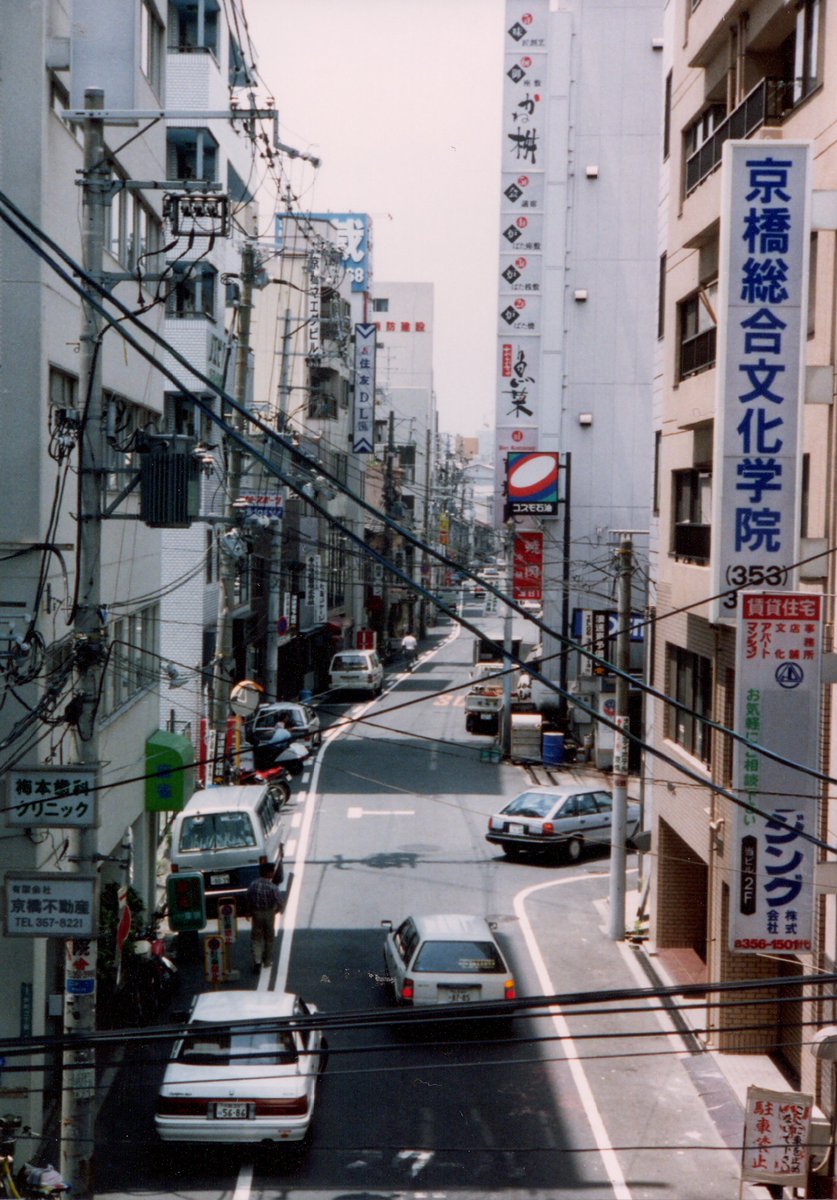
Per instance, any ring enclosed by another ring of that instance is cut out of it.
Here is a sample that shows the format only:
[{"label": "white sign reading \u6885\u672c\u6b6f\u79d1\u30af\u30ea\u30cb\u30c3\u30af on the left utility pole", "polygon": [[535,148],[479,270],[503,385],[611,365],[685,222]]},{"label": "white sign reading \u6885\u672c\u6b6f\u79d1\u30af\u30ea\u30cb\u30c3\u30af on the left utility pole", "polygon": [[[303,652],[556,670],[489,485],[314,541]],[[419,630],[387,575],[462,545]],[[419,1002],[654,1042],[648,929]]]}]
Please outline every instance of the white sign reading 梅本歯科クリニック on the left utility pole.
[{"label": "white sign reading \u6885\u672c\u6b6f\u79d1\u30af\u30ea\u30cb\u30c3\u30af on the left utility pole", "polygon": [[6,824],[96,826],[96,767],[16,767],[6,774]]}]

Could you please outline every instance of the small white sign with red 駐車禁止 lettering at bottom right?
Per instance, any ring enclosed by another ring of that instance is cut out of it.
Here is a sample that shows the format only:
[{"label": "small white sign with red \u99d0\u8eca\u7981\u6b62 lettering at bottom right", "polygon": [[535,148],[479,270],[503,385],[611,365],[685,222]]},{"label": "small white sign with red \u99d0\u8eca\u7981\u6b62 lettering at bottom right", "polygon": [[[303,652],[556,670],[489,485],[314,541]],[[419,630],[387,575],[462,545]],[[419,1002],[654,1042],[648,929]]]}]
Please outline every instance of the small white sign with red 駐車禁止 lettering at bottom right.
[{"label": "small white sign with red \u99d0\u8eca\u7981\u6b62 lettering at bottom right", "polygon": [[741,1180],[803,1188],[813,1097],[748,1087],[743,1117]]}]

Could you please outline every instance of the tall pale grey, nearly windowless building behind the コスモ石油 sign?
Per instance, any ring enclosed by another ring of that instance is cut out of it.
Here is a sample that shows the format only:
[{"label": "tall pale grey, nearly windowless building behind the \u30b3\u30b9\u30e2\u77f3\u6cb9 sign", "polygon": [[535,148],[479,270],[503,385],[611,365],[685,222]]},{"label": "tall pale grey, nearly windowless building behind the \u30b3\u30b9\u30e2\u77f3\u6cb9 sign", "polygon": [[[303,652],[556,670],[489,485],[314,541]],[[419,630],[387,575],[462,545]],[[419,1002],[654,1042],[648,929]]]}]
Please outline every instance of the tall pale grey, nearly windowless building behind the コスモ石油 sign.
[{"label": "tall pale grey, nearly windowless building behind the \u30b3\u30b9\u30e2\u77f3\u6cb9 sign", "polygon": [[[657,254],[643,215],[658,181],[662,13],[663,0],[506,5],[496,515],[507,454],[560,455],[558,512],[517,528],[543,534],[543,619],[562,637],[597,614],[607,628],[619,532],[637,533],[640,566],[648,546]],[[584,697],[571,715],[586,733],[613,678],[561,644],[544,636],[543,670]],[[540,703],[564,719],[553,692]]]}]

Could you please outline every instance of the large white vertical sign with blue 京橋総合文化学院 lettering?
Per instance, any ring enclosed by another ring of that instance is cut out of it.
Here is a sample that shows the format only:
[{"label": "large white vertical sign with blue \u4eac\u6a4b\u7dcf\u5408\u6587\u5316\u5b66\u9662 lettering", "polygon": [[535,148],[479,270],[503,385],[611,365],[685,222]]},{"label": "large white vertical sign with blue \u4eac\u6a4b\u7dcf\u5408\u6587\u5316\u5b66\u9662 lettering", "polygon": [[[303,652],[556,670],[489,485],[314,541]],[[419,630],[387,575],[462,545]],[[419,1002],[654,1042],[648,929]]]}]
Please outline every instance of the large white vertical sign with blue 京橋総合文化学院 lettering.
[{"label": "large white vertical sign with blue \u4eac\u6a4b\u7dcf\u5408\u6587\u5316\u5b66\u9662 lettering", "polygon": [[723,148],[712,620],[735,618],[736,589],[796,582],[809,157],[797,142]]}]

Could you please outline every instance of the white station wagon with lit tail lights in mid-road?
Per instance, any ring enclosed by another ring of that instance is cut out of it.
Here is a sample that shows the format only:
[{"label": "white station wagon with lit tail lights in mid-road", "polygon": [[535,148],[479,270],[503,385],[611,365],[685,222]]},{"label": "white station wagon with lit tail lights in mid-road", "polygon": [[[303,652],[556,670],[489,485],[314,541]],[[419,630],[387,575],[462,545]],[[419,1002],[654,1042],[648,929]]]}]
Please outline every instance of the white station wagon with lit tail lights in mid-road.
[{"label": "white station wagon with lit tail lights in mid-road", "polygon": [[386,930],[384,968],[401,1004],[514,1000],[514,979],[482,917],[430,913]]}]

